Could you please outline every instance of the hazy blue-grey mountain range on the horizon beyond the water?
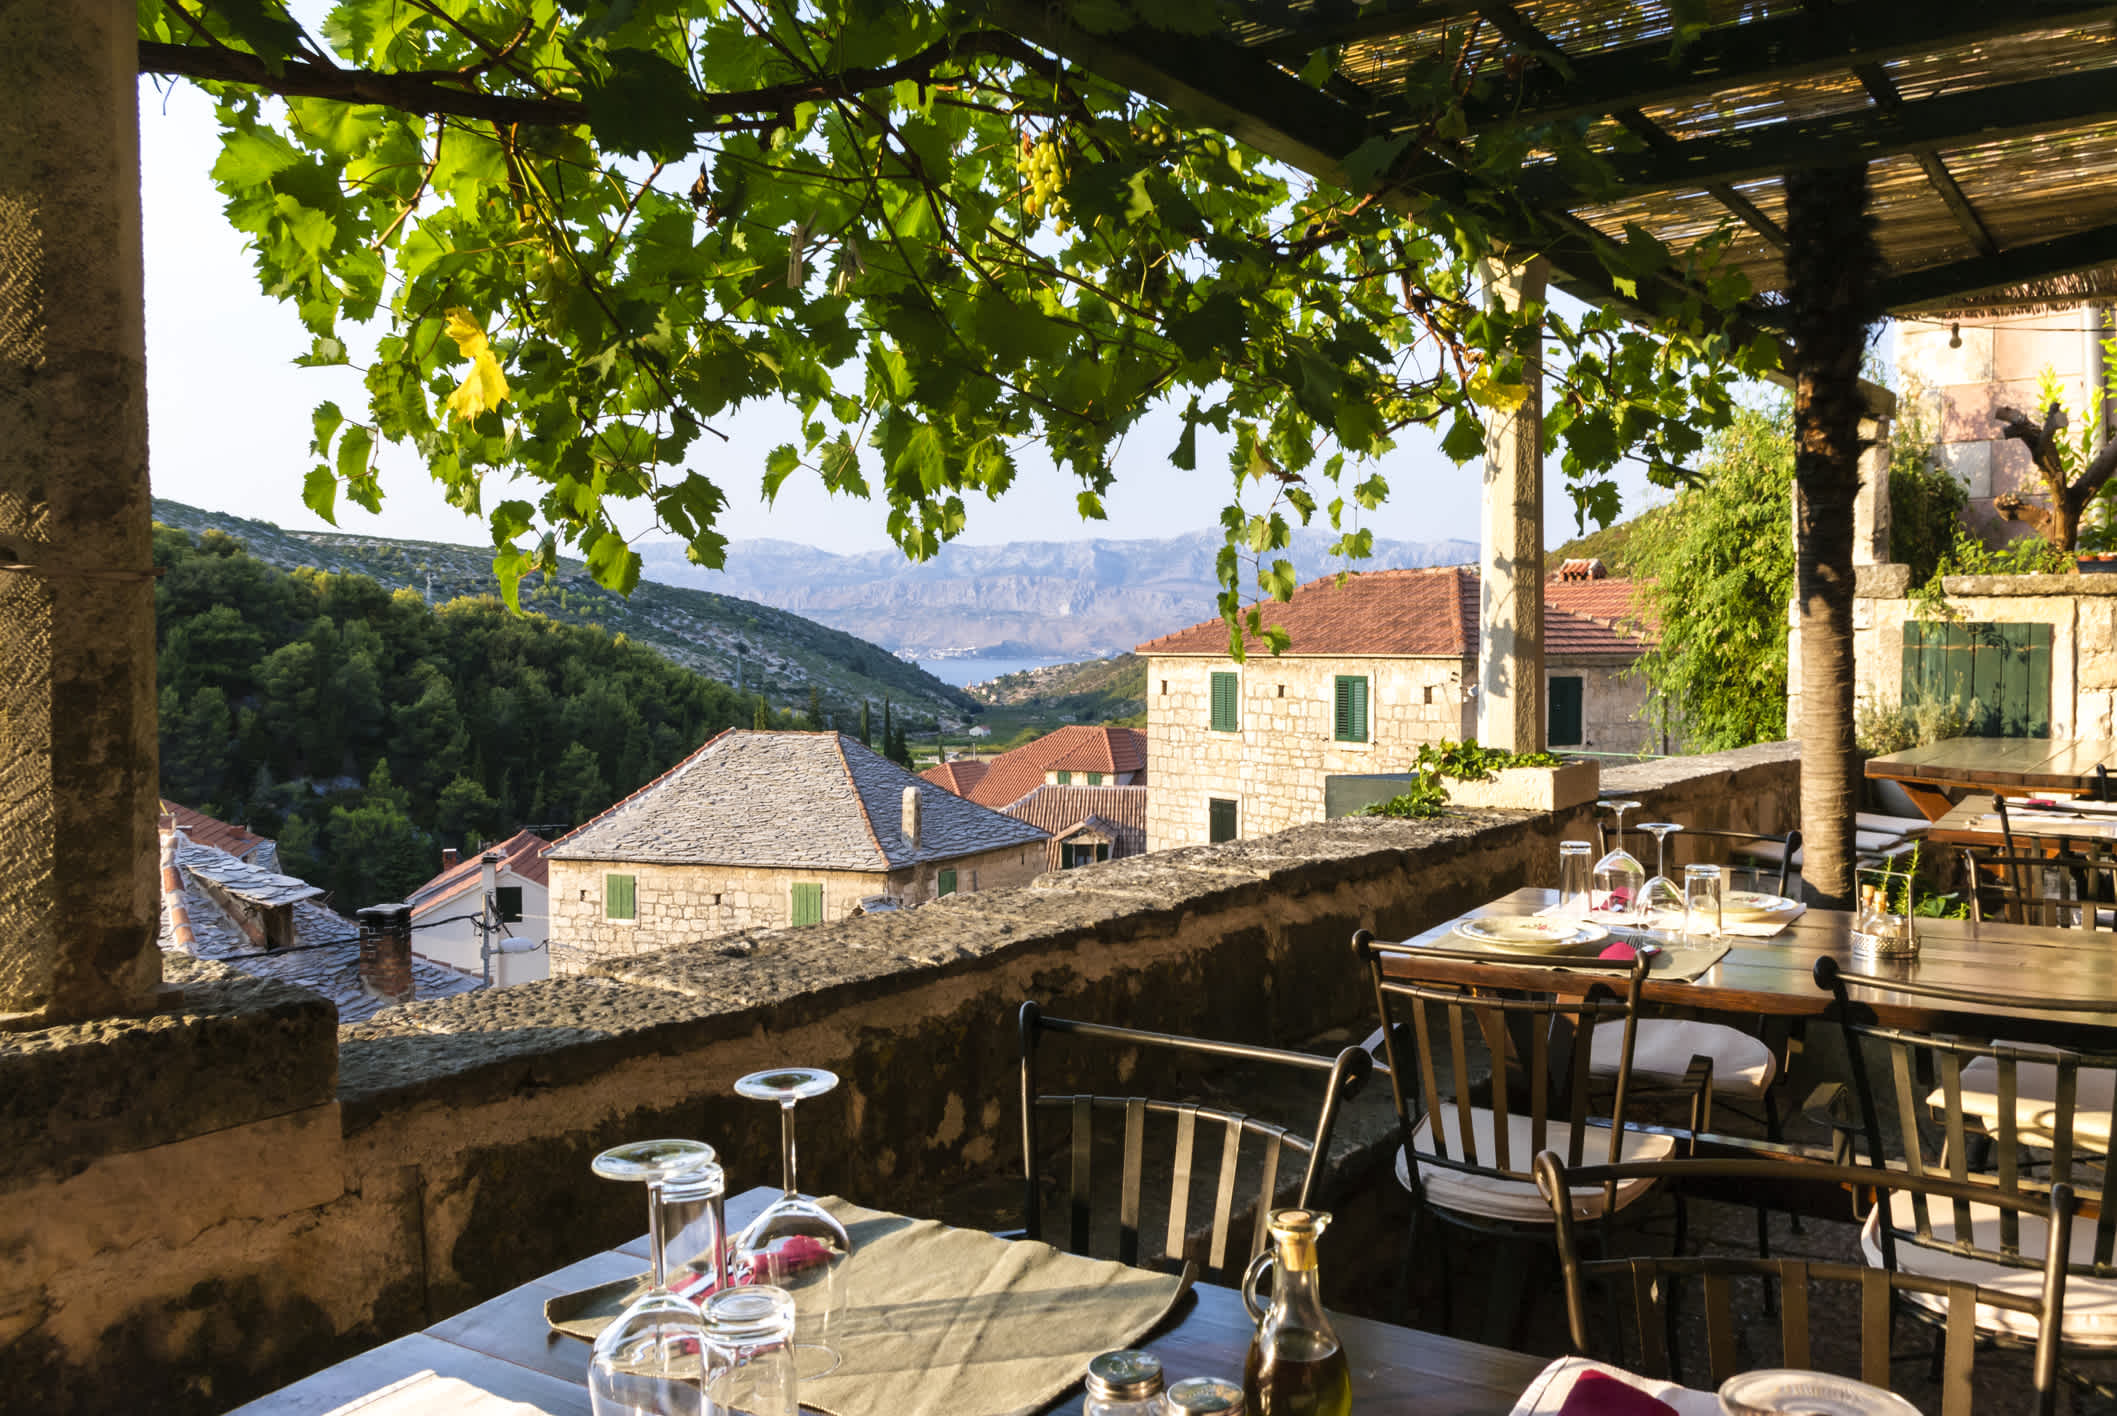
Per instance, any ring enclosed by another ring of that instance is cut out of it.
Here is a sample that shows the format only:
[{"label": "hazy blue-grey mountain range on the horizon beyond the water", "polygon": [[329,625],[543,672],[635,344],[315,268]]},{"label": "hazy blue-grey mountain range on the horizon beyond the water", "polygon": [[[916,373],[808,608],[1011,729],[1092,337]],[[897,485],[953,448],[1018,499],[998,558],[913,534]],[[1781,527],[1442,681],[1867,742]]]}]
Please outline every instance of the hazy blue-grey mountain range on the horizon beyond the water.
[{"label": "hazy blue-grey mountain range on the horizon beyond the water", "polygon": [[[1329,531],[1296,531],[1302,580],[1340,563]],[[1071,656],[1130,650],[1217,614],[1217,529],[1166,540],[1008,542],[944,546],[923,563],[898,550],[834,555],[781,540],[728,544],[724,571],[684,559],[680,542],[637,546],[644,574],[667,584],[739,595],[872,639],[917,658]],[[1463,540],[1374,544],[1361,569],[1461,565],[1478,559]]]}]

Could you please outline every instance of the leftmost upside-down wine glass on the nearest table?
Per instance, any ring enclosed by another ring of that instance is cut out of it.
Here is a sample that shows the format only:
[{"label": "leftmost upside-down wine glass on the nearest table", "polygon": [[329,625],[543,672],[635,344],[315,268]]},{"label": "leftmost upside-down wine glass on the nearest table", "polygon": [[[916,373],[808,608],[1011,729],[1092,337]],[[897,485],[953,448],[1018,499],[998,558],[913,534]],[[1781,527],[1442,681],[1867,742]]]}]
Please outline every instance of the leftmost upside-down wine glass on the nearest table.
[{"label": "leftmost upside-down wine glass on the nearest table", "polygon": [[648,1259],[654,1287],[597,1338],[589,1359],[595,1416],[705,1416],[705,1323],[669,1291],[663,1185],[713,1166],[705,1141],[633,1141],[595,1158],[603,1179],[646,1181]]}]

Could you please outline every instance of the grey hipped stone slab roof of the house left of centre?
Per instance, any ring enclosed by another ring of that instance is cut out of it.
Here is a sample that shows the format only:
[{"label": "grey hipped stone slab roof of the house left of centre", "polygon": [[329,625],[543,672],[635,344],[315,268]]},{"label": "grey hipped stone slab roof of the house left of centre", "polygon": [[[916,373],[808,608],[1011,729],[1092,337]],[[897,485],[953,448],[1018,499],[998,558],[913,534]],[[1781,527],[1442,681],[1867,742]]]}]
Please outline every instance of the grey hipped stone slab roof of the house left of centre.
[{"label": "grey hipped stone slab roof of the house left of centre", "polygon": [[[904,787],[919,789],[917,847]],[[889,872],[1042,840],[843,732],[730,728],[561,836],[550,859]]]}]

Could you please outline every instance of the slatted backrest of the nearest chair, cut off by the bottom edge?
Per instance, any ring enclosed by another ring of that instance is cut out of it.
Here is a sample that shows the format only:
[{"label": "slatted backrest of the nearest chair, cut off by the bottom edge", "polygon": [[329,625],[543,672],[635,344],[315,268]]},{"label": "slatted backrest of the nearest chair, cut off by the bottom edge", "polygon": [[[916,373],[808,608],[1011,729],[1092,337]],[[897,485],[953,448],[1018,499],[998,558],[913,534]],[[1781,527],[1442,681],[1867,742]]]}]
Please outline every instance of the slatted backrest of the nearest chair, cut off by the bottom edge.
[{"label": "slatted backrest of the nearest chair, cut off by the bottom edge", "polygon": [[[1573,1204],[1560,1196],[1569,1187],[1613,1185],[1624,1179],[1653,1179],[1666,1185],[1685,1181],[1744,1181],[1747,1192],[1770,1192],[1789,1185],[1842,1185],[1852,1192],[1876,1190],[1882,1213],[1888,1213],[1893,1194],[1918,1196],[1922,1204],[1967,1204],[1994,1206],[2013,1226],[2024,1217],[2043,1221],[2045,1247],[2037,1255],[2043,1270],[2043,1287],[2032,1297],[2022,1291],[1984,1289],[1971,1283],[1907,1274],[1895,1268],[1871,1268],[1865,1264],[1825,1264],[1806,1259],[1753,1259],[1753,1257],[1639,1257],[1639,1259],[1594,1259],[1584,1261],[1573,1223]],[[1977,1308],[1998,1308],[2028,1314],[2037,1323],[2037,1348],[2032,1359],[2037,1412],[2051,1416],[2058,1403],[2058,1317],[2066,1306],[2066,1251],[2073,1242],[2073,1213],[2077,1200],[2068,1185],[2053,1185],[2047,1196],[1996,1196],[1988,1185],[1941,1179],[1933,1175],[1907,1175],[1901,1170],[1874,1170],[1867,1166],[1823,1166],[1785,1160],[1655,1160],[1613,1166],[1569,1166],[1556,1154],[1537,1158],[1537,1183],[1558,1232],[1558,1264],[1567,1283],[1567,1321],[1573,1329],[1573,1348],[1586,1357],[1600,1357],[1647,1376],[1670,1378],[1677,1369],[1677,1355],[1668,1350],[1666,1319],[1670,1293],[1679,1283],[1698,1283],[1704,1289],[1704,1333],[1711,1384],[1719,1386],[1736,1372],[1744,1369],[1736,1342],[1736,1278],[1755,1276],[1774,1285],[1778,1297],[1778,1361],[1751,1355],[1747,1365],[1799,1367],[1810,1369],[1810,1285],[1848,1285],[1859,1289],[1859,1361],[1861,1380],[1871,1386],[1890,1386],[1890,1357],[1895,1308],[1899,1293],[1929,1295],[1946,1312],[1946,1346],[1941,1350],[1941,1416],[1971,1414],[1971,1374],[1977,1361]],[[1617,1291],[1603,1306],[1590,1306],[1590,1281],[1611,1283]],[[1622,1325],[1613,1342],[1603,1346],[1590,1331],[1590,1312],[1609,1312],[1613,1319],[1630,1310],[1632,1344],[1628,1350]],[[1770,1308],[1761,1308],[1770,1310]],[[1694,1312],[1694,1308],[1687,1308]],[[1744,1304],[1744,1314],[1759,1312],[1759,1306]]]}]

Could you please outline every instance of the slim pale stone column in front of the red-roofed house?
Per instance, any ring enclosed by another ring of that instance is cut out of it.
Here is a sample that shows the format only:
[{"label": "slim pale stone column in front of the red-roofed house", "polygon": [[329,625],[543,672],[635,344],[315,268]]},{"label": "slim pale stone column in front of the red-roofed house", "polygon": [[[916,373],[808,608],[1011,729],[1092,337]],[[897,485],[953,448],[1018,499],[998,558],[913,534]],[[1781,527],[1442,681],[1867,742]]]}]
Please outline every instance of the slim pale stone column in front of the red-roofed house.
[{"label": "slim pale stone column in front of the red-roofed house", "polygon": [[[1486,298],[1543,303],[1543,258],[1488,260]],[[1543,356],[1522,370],[1528,398],[1484,423],[1484,508],[1478,519],[1478,741],[1543,749]]]}]

